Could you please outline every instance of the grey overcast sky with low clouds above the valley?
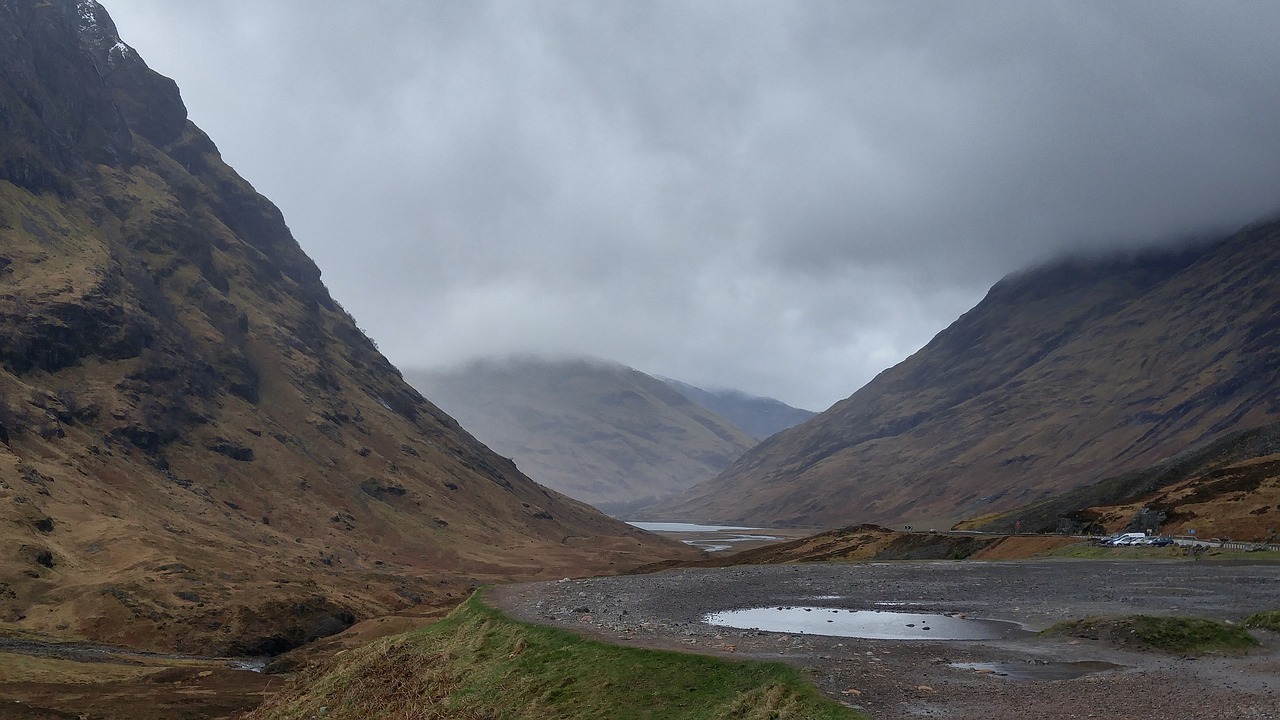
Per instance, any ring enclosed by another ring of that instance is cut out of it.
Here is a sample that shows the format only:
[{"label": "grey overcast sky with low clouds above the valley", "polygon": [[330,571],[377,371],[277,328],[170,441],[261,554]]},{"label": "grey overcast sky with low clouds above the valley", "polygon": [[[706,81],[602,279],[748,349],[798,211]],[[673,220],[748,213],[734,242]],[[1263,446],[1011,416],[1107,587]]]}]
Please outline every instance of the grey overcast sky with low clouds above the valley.
[{"label": "grey overcast sky with low clouds above the valley", "polygon": [[401,368],[820,410],[1002,275],[1280,208],[1280,3],[104,0]]}]

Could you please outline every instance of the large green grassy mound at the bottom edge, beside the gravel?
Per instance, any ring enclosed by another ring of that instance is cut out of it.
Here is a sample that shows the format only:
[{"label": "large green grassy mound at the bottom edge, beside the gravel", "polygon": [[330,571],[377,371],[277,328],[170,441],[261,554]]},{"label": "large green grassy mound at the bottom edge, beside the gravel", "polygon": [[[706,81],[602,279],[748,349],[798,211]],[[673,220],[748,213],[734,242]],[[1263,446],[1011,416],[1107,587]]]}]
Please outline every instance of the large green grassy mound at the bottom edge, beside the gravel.
[{"label": "large green grassy mound at the bottom edge, beside the gravel", "polygon": [[800,671],[787,665],[588,641],[517,623],[474,596],[434,625],[339,653],[251,717],[852,720],[863,716],[820,696]]}]

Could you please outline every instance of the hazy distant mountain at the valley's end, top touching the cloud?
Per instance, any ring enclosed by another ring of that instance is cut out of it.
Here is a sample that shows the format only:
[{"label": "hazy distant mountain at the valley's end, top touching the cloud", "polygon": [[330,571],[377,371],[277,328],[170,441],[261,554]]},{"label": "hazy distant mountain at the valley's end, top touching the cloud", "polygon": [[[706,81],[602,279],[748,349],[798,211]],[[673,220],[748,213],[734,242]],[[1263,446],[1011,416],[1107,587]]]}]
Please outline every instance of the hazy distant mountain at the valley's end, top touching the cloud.
[{"label": "hazy distant mountain at the valley's end, top touching the cloud", "polygon": [[406,377],[538,482],[613,514],[710,479],[755,445],[614,363],[517,357]]}]

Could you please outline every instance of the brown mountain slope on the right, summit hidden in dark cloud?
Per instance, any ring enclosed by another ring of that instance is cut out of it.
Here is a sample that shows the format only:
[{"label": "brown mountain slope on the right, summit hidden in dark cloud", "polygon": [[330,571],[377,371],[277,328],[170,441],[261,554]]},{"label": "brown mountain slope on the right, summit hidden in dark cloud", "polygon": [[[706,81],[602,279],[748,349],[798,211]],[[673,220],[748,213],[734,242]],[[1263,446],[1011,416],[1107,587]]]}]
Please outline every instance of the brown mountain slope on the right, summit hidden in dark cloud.
[{"label": "brown mountain slope on the right, summit hidden in dark cloud", "polygon": [[942,523],[1280,419],[1280,224],[1005,278],[924,348],[669,519]]}]

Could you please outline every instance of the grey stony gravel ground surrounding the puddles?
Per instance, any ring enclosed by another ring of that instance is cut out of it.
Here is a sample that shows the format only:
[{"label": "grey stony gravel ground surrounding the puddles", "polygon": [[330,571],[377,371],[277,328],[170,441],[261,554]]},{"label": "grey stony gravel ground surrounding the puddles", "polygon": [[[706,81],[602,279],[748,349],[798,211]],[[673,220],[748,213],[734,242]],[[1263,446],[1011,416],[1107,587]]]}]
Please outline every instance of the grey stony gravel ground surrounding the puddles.
[{"label": "grey stony gravel ground surrounding the puddles", "polygon": [[[964,614],[1043,629],[1093,615],[1196,615],[1238,621],[1280,607],[1280,564],[1011,561],[813,564],[561,580],[489,596],[512,615],[614,642],[783,660],[877,720],[1280,720],[1280,637],[1245,657],[1179,657],[1103,641],[865,641],[708,625],[708,612],[778,605]],[[910,603],[897,606],[891,603]],[[956,667],[1121,669],[1024,680]],[[1048,665],[1052,667],[1052,665]]]}]

